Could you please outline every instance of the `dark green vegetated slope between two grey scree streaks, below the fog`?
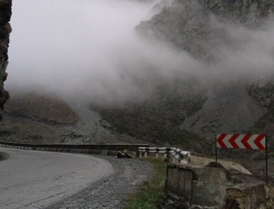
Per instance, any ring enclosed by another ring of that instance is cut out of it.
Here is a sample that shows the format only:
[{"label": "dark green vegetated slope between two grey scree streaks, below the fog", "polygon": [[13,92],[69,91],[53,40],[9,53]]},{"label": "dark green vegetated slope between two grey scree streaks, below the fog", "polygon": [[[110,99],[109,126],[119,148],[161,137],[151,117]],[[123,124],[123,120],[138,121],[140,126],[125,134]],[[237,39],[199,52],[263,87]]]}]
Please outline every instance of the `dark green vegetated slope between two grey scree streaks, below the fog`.
[{"label": "dark green vegetated slope between two grey scree streaks, below the fog", "polygon": [[[180,81],[182,82],[182,81]],[[203,107],[206,92],[179,81],[172,86],[158,86],[145,101],[135,101],[124,106],[99,107],[93,110],[108,122],[108,129],[120,134],[160,145],[182,145],[185,149],[199,147],[203,140],[180,125],[184,120]],[[197,144],[199,140],[200,145]],[[203,149],[203,145],[198,148]]]}]

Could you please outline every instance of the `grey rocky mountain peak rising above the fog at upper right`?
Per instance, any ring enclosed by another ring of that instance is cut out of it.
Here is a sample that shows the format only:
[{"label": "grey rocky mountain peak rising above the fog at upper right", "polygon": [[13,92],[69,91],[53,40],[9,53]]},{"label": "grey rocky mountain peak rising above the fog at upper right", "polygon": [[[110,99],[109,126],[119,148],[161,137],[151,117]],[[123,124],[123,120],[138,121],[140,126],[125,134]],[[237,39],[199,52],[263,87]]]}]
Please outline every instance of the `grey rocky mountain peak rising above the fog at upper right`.
[{"label": "grey rocky mountain peak rising above the fog at upper right", "polygon": [[175,0],[136,29],[146,37],[170,42],[195,58],[212,60],[218,56],[212,50],[215,46],[229,44],[224,29],[212,22],[214,16],[251,27],[273,11],[273,0]]}]

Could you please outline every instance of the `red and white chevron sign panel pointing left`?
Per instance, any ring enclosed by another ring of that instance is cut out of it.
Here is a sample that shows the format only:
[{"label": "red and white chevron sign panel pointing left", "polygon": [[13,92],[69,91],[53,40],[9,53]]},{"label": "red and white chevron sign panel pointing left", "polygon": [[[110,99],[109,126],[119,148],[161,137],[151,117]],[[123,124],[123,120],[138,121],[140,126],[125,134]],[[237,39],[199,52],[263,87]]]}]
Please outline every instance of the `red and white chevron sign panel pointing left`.
[{"label": "red and white chevron sign panel pointing left", "polygon": [[233,149],[266,149],[265,134],[217,134],[216,145]]}]

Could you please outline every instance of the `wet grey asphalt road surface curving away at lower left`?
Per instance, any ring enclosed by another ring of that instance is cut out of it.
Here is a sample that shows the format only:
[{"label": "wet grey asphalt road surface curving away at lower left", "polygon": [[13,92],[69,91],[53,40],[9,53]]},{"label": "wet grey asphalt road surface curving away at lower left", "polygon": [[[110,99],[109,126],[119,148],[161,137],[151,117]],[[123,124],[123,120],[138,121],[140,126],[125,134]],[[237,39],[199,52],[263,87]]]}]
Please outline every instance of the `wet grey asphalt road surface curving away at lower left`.
[{"label": "wet grey asphalt road surface curving away at lower left", "polygon": [[0,208],[38,209],[69,197],[113,173],[93,156],[0,147]]}]

